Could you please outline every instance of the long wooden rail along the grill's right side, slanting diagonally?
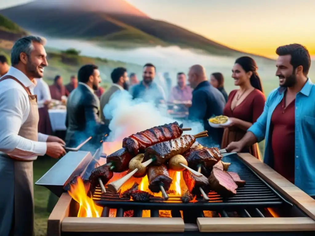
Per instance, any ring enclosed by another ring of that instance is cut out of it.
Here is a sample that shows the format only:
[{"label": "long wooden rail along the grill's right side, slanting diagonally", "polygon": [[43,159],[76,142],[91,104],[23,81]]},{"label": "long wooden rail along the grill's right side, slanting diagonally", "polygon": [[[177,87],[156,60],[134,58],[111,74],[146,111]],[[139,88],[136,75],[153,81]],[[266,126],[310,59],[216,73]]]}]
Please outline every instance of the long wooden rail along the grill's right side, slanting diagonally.
[{"label": "long wooden rail along the grill's right side, slanting diagonally", "polygon": [[315,200],[308,194],[296,187],[289,180],[281,176],[270,166],[256,159],[249,153],[238,153],[238,157],[252,168],[275,190],[285,196],[289,201],[297,205],[309,217],[315,220]]}]

